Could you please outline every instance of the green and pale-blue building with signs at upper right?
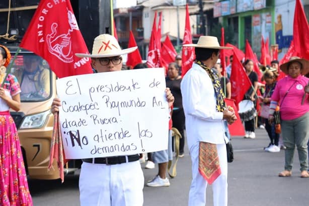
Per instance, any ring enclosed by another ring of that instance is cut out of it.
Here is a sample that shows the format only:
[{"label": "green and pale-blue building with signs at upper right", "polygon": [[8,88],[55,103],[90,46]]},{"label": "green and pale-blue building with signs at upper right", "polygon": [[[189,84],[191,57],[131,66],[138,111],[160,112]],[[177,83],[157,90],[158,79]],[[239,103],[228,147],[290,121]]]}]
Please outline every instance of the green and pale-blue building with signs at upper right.
[{"label": "green and pale-blue building with signs at upper right", "polygon": [[[303,0],[308,16],[309,0]],[[225,25],[233,25],[237,46],[245,50],[246,39],[260,56],[261,38],[269,46],[278,44],[281,59],[293,36],[295,0],[228,0],[214,3],[214,17]]]}]

